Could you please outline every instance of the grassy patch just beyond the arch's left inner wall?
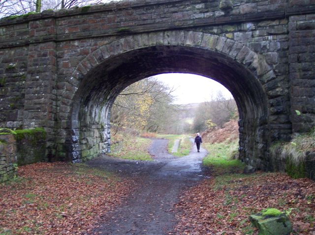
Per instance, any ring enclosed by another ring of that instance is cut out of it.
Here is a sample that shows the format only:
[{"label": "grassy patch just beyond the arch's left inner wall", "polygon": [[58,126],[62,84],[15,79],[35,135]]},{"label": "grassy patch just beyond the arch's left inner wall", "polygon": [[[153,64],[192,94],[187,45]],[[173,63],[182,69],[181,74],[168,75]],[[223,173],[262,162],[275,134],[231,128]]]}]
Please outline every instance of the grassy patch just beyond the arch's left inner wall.
[{"label": "grassy patch just beyond the arch's left inner wall", "polygon": [[152,161],[149,154],[151,143],[150,139],[128,136],[119,144],[112,145],[109,155],[129,160]]}]

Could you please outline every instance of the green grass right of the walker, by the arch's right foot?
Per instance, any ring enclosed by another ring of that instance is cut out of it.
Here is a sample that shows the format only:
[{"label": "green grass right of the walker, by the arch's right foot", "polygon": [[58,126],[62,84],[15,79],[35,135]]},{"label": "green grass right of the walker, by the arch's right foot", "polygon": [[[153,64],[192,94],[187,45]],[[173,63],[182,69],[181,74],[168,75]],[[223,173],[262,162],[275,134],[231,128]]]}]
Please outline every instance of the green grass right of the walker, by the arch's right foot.
[{"label": "green grass right of the walker, by the arch's right foot", "polygon": [[203,147],[208,151],[203,158],[203,164],[211,166],[217,174],[238,173],[243,171],[245,164],[238,159],[233,159],[237,153],[238,140],[222,143],[204,143]]}]

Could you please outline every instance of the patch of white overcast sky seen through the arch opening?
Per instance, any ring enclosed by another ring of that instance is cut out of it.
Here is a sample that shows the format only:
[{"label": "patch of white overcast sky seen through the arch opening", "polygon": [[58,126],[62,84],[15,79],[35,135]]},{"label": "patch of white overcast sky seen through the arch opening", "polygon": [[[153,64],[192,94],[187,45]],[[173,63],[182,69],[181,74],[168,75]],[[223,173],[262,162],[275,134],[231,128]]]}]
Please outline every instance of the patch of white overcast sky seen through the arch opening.
[{"label": "patch of white overcast sky seen through the arch opening", "polygon": [[232,98],[232,94],[219,82],[192,74],[160,74],[154,76],[170,88],[176,97],[174,104],[202,103],[211,100],[220,90],[226,99]]}]

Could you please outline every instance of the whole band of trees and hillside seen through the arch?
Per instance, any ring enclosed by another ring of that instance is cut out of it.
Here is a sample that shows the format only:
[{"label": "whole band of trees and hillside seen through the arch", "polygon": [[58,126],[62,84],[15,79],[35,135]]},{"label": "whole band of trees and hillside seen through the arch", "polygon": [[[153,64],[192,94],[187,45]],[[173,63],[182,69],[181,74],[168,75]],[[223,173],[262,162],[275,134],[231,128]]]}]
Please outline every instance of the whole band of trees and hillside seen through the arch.
[{"label": "whole band of trees and hillside seen through the arch", "polygon": [[131,84],[112,107],[112,134],[123,129],[168,134],[201,132],[222,127],[238,116],[235,101],[226,100],[221,92],[211,102],[183,105],[172,102],[172,89],[154,77]]}]

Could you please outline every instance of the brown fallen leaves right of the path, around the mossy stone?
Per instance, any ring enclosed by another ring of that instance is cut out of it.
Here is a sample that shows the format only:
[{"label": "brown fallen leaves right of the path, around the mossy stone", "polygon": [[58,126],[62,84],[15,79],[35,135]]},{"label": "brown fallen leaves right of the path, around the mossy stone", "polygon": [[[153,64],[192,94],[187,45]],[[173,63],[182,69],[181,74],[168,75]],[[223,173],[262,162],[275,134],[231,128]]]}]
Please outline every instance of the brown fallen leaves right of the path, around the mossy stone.
[{"label": "brown fallen leaves right of the path, around the mossy stone", "polygon": [[315,234],[315,182],[262,172],[226,174],[185,191],[176,205],[174,234],[256,235],[248,217],[266,208],[288,214],[292,235]]}]

